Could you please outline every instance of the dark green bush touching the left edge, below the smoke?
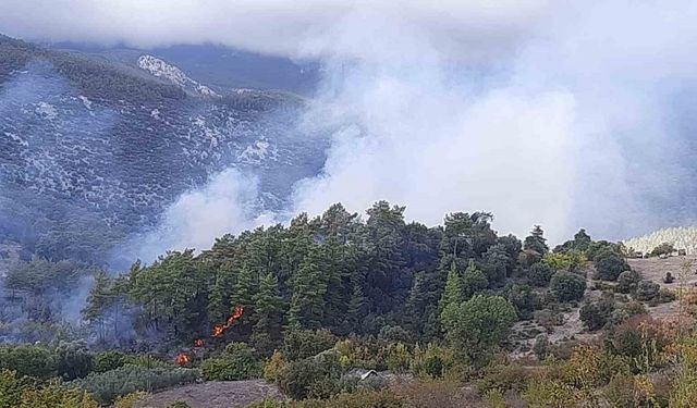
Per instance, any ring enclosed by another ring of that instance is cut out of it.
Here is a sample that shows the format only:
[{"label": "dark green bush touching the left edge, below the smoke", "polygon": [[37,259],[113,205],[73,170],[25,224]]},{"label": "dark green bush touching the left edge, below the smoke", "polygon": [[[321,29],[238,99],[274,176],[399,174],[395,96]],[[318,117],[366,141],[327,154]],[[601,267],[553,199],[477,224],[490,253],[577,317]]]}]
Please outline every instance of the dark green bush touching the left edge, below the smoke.
[{"label": "dark green bush touching the left edge, below the smoke", "polygon": [[0,346],[0,370],[46,380],[58,374],[58,358],[42,346],[3,345]]}]

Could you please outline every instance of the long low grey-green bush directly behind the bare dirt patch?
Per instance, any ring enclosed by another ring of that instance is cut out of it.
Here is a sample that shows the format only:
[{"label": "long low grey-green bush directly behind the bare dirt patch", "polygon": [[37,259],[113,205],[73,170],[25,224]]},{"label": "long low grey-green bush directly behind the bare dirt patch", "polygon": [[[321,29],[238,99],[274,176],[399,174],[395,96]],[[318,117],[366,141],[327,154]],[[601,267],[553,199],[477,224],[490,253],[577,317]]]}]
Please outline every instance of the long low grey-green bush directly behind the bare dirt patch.
[{"label": "long low grey-green bush directly behind the bare dirt patch", "polygon": [[95,397],[100,404],[111,404],[117,397],[138,391],[152,392],[186,384],[199,378],[198,370],[184,368],[152,368],[126,364],[103,373],[91,373],[70,382]]}]

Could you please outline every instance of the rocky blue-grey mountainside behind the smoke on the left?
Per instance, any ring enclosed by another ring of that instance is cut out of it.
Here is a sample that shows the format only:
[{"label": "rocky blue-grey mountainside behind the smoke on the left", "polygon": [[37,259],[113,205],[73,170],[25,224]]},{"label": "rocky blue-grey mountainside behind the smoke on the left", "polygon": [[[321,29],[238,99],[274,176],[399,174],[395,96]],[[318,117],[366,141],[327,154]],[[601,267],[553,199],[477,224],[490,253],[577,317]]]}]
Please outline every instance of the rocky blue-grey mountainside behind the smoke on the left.
[{"label": "rocky blue-grey mountainside behind the smoke on the left", "polygon": [[321,169],[322,143],[294,131],[299,97],[201,91],[181,70],[143,61],[0,36],[0,242],[94,260],[223,169],[258,176],[260,209],[283,206]]}]

